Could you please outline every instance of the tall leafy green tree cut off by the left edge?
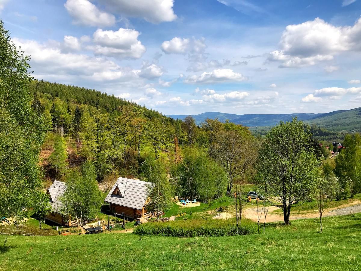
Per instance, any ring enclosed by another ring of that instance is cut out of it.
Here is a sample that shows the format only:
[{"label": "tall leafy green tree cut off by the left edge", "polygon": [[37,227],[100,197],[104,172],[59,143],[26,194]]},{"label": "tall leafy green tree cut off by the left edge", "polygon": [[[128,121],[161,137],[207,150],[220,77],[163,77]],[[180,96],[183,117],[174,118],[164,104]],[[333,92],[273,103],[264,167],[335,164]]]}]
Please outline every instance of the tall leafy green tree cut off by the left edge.
[{"label": "tall leafy green tree cut off by the left edge", "polygon": [[38,155],[43,118],[30,106],[29,57],[0,20],[0,217],[29,216],[42,198]]}]

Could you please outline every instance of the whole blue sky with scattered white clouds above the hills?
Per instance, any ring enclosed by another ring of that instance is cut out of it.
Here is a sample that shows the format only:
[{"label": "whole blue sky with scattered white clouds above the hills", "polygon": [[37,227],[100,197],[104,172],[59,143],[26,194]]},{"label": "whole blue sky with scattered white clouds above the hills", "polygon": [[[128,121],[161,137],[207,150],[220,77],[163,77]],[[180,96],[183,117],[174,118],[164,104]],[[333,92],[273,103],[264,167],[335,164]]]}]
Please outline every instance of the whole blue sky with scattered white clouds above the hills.
[{"label": "whole blue sky with scattered white clouds above the hills", "polygon": [[0,0],[35,78],[165,114],[361,106],[361,0]]}]

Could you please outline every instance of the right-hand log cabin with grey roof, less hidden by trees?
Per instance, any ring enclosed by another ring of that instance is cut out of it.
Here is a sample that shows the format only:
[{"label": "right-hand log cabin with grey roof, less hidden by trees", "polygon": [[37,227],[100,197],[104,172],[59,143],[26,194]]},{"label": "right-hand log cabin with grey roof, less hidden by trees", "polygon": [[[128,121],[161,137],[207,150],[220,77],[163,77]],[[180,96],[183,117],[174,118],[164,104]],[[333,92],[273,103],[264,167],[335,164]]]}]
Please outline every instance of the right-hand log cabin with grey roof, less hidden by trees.
[{"label": "right-hand log cabin with grey roof, less hidden by trees", "polygon": [[152,182],[119,177],[105,202],[110,203],[110,211],[113,213],[124,213],[131,219],[149,218],[155,215],[153,210],[148,210],[150,206],[147,204],[154,186]]}]

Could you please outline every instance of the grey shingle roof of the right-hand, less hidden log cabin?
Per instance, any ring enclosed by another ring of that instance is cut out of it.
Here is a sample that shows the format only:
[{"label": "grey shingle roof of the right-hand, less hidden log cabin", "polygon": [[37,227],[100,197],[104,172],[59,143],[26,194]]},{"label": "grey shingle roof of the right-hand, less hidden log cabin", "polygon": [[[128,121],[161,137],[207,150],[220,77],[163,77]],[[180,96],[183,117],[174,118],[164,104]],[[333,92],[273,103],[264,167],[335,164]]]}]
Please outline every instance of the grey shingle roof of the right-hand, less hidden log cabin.
[{"label": "grey shingle roof of the right-hand, less hidden log cabin", "polygon": [[[124,197],[113,195],[114,189],[116,189],[118,185],[120,188],[123,188],[124,184]],[[105,202],[142,210],[145,205],[145,201],[147,201],[150,190],[154,186],[155,185],[152,182],[119,177],[112,189],[110,189],[109,194],[106,196]]]}]

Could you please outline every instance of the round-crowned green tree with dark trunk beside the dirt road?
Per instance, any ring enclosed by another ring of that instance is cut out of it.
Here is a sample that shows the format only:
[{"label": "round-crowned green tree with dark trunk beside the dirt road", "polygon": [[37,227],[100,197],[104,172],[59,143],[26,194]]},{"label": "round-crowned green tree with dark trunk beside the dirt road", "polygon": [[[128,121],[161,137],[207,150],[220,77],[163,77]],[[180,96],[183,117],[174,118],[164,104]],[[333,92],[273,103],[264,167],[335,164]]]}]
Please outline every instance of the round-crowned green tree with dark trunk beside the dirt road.
[{"label": "round-crowned green tree with dark trunk beside the dirt road", "polygon": [[268,193],[282,205],[284,223],[290,223],[291,207],[309,198],[319,165],[311,134],[302,121],[280,122],[271,129],[259,152],[257,169]]}]

